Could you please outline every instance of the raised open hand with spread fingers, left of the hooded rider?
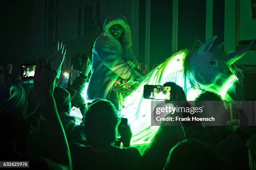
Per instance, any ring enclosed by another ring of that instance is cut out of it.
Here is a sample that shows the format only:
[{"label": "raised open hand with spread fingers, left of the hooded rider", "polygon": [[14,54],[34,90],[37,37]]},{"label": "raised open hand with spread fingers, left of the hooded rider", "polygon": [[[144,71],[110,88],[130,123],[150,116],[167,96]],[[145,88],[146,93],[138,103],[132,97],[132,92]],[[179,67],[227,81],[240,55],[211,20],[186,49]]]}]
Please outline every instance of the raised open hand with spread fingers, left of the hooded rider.
[{"label": "raised open hand with spread fingers, left of the hooded rider", "polygon": [[58,42],[57,50],[55,51],[54,55],[54,70],[57,72],[57,78],[59,78],[61,74],[61,65],[64,61],[66,49],[64,48],[65,45],[61,42],[61,44]]}]

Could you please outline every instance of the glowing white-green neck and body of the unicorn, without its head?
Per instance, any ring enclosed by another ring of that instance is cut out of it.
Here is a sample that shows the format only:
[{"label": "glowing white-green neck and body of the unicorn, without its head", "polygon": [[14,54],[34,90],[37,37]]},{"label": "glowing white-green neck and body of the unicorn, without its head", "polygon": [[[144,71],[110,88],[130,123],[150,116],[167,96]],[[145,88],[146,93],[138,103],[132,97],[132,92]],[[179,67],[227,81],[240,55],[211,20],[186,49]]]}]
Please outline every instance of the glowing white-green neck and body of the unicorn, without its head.
[{"label": "glowing white-green neck and body of the unicorn, without its head", "polygon": [[[189,53],[189,50],[181,50],[163,63],[151,70],[147,75],[141,78],[141,82],[136,86],[136,90],[125,97],[121,117],[128,118],[133,133],[132,144],[148,143],[154,137],[158,130],[157,126],[151,126],[151,101],[143,98],[144,85],[163,85],[165,82],[175,82],[184,87],[186,83],[183,79],[183,60]],[[200,91],[191,89],[187,85],[187,97],[195,99]],[[194,95],[196,94],[196,95]]]}]

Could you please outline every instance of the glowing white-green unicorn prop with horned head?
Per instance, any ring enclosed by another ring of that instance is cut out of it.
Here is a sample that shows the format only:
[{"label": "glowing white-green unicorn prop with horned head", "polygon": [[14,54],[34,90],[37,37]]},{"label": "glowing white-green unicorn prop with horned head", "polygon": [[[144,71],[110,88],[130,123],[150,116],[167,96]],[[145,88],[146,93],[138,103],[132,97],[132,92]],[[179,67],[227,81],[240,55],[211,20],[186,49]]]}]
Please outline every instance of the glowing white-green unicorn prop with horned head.
[{"label": "glowing white-green unicorn prop with horned head", "polygon": [[221,95],[225,100],[241,100],[243,89],[232,64],[240,59],[253,42],[241,51],[226,57],[220,44],[212,47],[217,36],[203,43],[198,50],[183,50],[169,57],[154,68],[141,81],[138,88],[125,97],[123,117],[128,118],[133,137],[131,144],[144,144],[154,137],[157,126],[151,126],[151,100],[143,98],[143,86],[163,85],[175,82],[184,87],[187,100],[194,100],[201,90],[208,90]]}]

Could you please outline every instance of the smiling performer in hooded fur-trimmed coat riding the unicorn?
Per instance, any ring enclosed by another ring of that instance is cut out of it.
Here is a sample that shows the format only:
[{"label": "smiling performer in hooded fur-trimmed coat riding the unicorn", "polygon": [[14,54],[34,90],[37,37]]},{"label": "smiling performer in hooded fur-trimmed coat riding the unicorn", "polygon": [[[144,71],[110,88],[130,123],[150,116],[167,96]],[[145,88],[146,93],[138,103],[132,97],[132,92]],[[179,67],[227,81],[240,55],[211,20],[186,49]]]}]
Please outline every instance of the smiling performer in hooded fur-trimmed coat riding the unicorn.
[{"label": "smiling performer in hooded fur-trimmed coat riding the unicorn", "polygon": [[131,69],[138,67],[131,45],[131,29],[125,17],[108,15],[92,49],[92,75],[87,100],[110,100],[120,109],[122,97],[114,84],[119,78],[132,80]]}]

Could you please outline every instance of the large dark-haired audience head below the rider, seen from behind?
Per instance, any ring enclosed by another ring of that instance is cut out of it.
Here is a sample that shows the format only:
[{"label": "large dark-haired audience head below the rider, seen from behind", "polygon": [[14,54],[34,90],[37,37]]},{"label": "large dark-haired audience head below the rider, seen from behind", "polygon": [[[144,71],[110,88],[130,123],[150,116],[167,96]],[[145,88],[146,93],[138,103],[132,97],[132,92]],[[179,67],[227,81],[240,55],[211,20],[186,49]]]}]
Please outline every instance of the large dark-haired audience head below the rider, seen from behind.
[{"label": "large dark-haired audience head below the rider, seen from behind", "polygon": [[92,146],[109,146],[115,142],[118,122],[117,110],[111,102],[94,102],[84,116],[82,135]]}]

